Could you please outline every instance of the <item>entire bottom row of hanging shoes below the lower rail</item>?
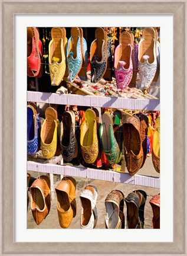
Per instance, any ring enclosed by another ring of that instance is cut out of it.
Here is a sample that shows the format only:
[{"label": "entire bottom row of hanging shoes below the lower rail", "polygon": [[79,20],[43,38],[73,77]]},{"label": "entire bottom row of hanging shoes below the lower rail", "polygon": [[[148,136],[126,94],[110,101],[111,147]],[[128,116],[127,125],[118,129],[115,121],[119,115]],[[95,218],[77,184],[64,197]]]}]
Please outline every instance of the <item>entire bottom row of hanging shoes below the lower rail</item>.
[{"label": "entire bottom row of hanging shoes below the lower rail", "polygon": [[[30,175],[27,174],[27,187]],[[50,212],[50,178],[45,175],[35,180],[29,188],[31,194],[31,210],[35,222],[39,225]],[[57,194],[57,212],[61,228],[68,228],[71,220],[76,216],[76,180],[73,177],[64,177],[55,188]],[[28,191],[27,191],[28,193]],[[93,229],[97,223],[98,191],[94,185],[86,185],[80,194],[81,200],[81,229]],[[127,206],[127,228],[143,229],[145,223],[144,209],[147,194],[143,190],[136,190],[126,198],[122,191],[112,190],[105,199],[107,229],[124,229],[124,201]],[[27,209],[29,197],[27,194]],[[160,194],[153,196],[149,201],[153,210],[152,228],[160,228]]]}]

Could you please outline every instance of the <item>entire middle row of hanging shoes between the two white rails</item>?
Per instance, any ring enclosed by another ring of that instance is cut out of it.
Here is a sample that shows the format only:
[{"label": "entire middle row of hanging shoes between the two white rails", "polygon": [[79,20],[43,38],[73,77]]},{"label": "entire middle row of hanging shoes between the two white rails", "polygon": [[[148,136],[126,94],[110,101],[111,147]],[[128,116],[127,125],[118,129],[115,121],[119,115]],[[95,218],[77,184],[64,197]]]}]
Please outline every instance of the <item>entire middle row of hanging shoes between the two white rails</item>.
[{"label": "entire middle row of hanging shoes between the two white rails", "polygon": [[[62,155],[64,162],[78,161],[84,167],[113,168],[136,174],[152,153],[155,170],[160,172],[160,118],[150,132],[150,113],[97,108],[77,110],[66,106],[58,120],[54,107],[45,109],[45,119],[35,103],[27,105],[27,154],[38,151],[45,159]],[[151,149],[150,149],[151,148]],[[124,161],[123,161],[124,160]]]}]

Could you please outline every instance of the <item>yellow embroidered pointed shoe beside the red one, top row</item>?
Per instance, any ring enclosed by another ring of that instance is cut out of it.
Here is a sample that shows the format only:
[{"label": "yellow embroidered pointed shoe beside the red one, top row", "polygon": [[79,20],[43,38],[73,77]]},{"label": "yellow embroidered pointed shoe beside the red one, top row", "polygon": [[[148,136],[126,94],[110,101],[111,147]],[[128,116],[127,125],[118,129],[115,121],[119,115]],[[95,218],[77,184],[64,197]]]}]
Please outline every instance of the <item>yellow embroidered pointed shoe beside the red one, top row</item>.
[{"label": "yellow embroidered pointed shoe beside the red one, top row", "polygon": [[51,85],[60,85],[65,74],[65,28],[51,29],[49,44],[49,68]]}]

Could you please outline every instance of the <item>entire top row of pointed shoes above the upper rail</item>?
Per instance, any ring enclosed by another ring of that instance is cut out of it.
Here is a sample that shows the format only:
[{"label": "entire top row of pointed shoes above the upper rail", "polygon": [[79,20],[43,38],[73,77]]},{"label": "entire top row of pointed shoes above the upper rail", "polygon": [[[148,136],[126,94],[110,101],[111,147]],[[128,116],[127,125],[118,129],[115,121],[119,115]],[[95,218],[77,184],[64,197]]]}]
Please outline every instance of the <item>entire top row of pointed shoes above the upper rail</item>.
[{"label": "entire top row of pointed shoes above the upper rail", "polygon": [[[95,38],[90,47],[91,82],[99,82],[102,78],[112,81],[113,69],[119,91],[123,91],[129,84],[136,85],[138,70],[143,88],[149,88],[152,81],[157,81],[160,44],[156,28],[144,28],[138,46],[134,43],[132,31],[122,32],[114,52],[114,61],[106,30],[97,28]],[[53,27],[48,53],[51,85],[58,86],[63,80],[87,81],[87,42],[82,28],[71,28],[71,37],[67,39],[65,28]],[[42,62],[42,42],[38,29],[28,27],[27,75],[40,78]]]}]

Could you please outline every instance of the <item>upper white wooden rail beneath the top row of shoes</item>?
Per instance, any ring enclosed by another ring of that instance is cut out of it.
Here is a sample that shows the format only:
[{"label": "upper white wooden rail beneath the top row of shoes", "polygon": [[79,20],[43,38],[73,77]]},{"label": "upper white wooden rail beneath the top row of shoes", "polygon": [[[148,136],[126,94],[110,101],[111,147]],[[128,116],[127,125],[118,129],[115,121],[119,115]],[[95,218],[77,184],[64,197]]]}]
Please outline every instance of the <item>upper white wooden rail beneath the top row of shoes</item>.
[{"label": "upper white wooden rail beneath the top row of shoes", "polygon": [[160,100],[154,99],[96,97],[91,95],[27,91],[27,101],[59,105],[81,105],[87,107],[113,107],[132,110],[160,111]]}]

